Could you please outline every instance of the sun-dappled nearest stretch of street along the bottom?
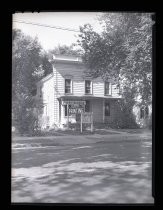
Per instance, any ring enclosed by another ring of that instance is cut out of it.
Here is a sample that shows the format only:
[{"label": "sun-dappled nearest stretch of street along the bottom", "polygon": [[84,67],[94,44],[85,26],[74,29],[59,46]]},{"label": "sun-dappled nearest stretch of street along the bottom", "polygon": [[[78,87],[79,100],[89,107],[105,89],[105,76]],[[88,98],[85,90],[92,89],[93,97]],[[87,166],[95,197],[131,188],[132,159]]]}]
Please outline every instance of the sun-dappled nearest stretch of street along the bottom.
[{"label": "sun-dappled nearest stretch of street along the bottom", "polygon": [[88,162],[72,158],[13,169],[12,202],[152,202],[150,162],[103,158],[99,156],[95,161],[89,157]]}]

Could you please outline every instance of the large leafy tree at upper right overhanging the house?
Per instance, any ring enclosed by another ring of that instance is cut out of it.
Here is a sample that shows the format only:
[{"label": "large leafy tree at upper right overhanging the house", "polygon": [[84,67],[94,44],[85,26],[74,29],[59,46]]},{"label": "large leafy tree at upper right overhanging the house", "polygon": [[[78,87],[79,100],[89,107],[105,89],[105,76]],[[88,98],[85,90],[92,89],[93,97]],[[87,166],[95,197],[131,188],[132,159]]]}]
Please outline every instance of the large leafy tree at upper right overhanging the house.
[{"label": "large leafy tree at upper right overhanging the house", "polygon": [[[90,24],[80,27],[78,43],[93,77],[118,79],[126,100],[152,100],[152,19],[147,13],[106,13],[102,34]],[[132,92],[132,94],[130,93]],[[129,98],[132,97],[132,98]]]}]

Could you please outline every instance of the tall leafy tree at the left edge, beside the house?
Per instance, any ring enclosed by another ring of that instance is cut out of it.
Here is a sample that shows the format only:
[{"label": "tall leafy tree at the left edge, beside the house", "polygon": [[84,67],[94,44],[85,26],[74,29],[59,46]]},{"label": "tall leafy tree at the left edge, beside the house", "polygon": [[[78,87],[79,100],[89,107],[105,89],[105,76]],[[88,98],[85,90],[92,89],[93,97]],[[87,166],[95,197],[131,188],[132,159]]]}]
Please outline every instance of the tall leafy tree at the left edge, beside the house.
[{"label": "tall leafy tree at the left edge, beside the house", "polygon": [[41,46],[37,38],[13,30],[12,114],[21,133],[33,129],[36,82],[42,78]]}]

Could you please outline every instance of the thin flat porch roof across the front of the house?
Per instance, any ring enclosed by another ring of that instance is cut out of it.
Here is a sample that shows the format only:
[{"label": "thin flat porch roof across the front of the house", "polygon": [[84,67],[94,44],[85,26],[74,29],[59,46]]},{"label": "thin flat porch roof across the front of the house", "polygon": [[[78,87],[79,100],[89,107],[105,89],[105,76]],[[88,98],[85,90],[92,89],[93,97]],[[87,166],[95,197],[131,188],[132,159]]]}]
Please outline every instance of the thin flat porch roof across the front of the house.
[{"label": "thin flat porch roof across the front of the house", "polygon": [[64,95],[58,97],[58,100],[88,100],[88,99],[123,99],[122,97],[112,97],[112,96],[93,96],[93,95],[83,95],[83,96],[73,96]]}]

